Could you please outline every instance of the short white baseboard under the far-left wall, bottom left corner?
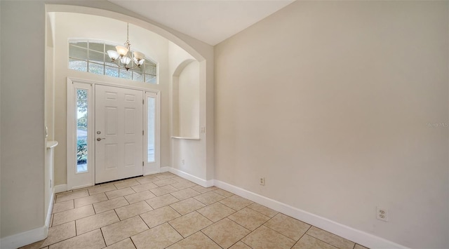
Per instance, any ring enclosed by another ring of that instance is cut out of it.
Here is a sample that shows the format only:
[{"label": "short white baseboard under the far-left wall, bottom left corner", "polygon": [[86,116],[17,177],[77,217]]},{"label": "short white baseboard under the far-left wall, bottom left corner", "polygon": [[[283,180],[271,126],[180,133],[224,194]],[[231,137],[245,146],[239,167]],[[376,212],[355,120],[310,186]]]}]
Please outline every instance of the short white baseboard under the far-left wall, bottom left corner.
[{"label": "short white baseboard under the far-left wall, bottom left corner", "polygon": [[29,231],[24,231],[20,234],[13,234],[11,236],[1,238],[1,249],[20,248],[24,245],[41,241],[48,236],[48,227],[45,225]]}]

